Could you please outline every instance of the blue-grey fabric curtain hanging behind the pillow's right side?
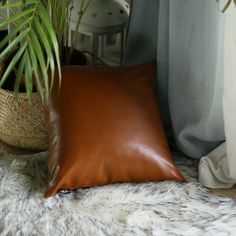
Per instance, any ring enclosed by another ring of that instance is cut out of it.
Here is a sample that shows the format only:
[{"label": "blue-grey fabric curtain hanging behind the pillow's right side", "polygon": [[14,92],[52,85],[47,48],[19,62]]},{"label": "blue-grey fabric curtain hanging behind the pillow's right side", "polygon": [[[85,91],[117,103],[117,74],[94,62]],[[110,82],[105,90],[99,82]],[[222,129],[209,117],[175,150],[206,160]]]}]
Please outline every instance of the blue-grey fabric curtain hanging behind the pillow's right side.
[{"label": "blue-grey fabric curtain hanging behind the pillow's right side", "polygon": [[222,143],[224,16],[215,1],[135,0],[125,65],[157,61],[158,100],[178,148],[200,158]]}]

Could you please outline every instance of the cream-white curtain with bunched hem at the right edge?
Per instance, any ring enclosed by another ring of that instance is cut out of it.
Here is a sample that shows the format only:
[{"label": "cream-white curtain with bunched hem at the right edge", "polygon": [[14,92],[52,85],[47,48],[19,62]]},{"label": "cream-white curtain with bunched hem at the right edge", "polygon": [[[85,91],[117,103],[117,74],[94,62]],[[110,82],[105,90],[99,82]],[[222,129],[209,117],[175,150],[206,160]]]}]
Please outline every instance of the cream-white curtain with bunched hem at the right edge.
[{"label": "cream-white curtain with bunched hem at the right edge", "polygon": [[229,188],[236,183],[236,7],[225,13],[223,110],[226,143],[203,157],[199,181],[209,188]]}]

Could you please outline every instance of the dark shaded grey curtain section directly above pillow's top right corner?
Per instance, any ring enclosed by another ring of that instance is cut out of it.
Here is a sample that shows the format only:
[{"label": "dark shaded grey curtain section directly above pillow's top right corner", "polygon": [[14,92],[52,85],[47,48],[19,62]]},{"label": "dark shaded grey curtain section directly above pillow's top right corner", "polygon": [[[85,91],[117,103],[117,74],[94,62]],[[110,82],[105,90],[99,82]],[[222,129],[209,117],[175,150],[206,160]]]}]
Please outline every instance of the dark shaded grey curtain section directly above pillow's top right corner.
[{"label": "dark shaded grey curtain section directly above pillow's top right corner", "polygon": [[156,59],[158,0],[132,2],[124,64],[133,66]]}]

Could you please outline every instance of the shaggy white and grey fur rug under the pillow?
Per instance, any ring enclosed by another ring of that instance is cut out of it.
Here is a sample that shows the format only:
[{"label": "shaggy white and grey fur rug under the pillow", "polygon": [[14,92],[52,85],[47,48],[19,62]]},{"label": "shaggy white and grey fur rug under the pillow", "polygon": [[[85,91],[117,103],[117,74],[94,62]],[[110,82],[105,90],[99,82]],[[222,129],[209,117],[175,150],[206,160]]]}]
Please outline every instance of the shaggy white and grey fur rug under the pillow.
[{"label": "shaggy white and grey fur rug under the pillow", "polygon": [[236,202],[196,181],[196,160],[173,154],[188,182],[115,184],[44,199],[47,153],[0,154],[0,235],[236,235]]}]

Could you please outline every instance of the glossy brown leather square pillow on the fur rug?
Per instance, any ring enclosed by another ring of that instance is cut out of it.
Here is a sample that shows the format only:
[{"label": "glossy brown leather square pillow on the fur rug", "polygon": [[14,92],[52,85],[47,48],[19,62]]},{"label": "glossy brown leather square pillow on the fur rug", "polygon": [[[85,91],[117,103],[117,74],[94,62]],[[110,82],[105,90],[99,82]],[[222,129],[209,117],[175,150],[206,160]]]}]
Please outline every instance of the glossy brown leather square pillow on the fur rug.
[{"label": "glossy brown leather square pillow on the fur rug", "polygon": [[175,168],[154,93],[155,66],[64,67],[47,104],[45,197],[117,182],[184,181]]}]

